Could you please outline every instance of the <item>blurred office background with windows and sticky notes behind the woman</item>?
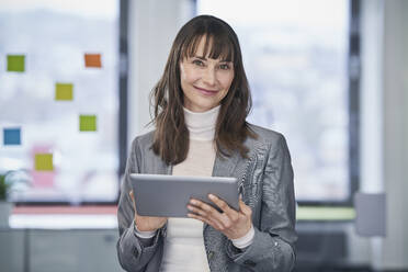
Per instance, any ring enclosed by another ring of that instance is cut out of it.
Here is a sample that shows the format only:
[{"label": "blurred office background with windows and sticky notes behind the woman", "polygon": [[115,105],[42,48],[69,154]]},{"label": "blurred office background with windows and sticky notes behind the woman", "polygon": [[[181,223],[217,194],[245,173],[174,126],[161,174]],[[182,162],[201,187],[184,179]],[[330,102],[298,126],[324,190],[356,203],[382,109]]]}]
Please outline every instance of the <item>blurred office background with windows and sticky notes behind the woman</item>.
[{"label": "blurred office background with windows and sticky notes behind the woman", "polygon": [[237,32],[249,122],[283,133],[295,271],[408,271],[408,1],[1,0],[1,271],[122,271],[116,203],[197,14]]}]

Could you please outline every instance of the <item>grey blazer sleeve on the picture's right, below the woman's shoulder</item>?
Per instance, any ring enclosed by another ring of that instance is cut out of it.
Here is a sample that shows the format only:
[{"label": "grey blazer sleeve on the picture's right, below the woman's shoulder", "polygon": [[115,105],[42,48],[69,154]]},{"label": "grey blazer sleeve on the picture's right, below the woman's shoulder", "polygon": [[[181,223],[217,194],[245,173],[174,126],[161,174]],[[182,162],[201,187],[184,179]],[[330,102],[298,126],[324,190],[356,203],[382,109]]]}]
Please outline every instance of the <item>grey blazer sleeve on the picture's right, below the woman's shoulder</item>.
[{"label": "grey blazer sleeve on the picture's right, below the woman's shoulder", "polygon": [[243,251],[231,242],[228,256],[250,271],[292,271],[295,264],[295,196],[293,169],[286,141],[281,135],[270,149],[263,173],[259,228],[252,243]]}]

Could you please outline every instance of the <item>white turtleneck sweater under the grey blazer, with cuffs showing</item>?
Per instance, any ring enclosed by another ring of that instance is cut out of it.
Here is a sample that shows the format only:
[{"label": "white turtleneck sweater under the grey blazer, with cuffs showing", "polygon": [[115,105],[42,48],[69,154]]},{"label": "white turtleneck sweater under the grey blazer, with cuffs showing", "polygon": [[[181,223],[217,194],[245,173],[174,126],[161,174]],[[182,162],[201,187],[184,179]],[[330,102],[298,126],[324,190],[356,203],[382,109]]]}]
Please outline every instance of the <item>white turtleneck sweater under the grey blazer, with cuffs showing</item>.
[{"label": "white turtleneck sweater under the grey blazer, with cuffs showing", "polygon": [[[184,161],[173,166],[173,175],[211,177],[215,161],[214,134],[219,105],[203,113],[184,109],[185,125],[190,132],[189,154]],[[138,231],[141,238],[150,238],[156,231]],[[253,228],[233,243],[246,248],[253,239]],[[169,218],[165,252],[160,271],[209,271],[203,238],[203,223],[192,218]]]}]

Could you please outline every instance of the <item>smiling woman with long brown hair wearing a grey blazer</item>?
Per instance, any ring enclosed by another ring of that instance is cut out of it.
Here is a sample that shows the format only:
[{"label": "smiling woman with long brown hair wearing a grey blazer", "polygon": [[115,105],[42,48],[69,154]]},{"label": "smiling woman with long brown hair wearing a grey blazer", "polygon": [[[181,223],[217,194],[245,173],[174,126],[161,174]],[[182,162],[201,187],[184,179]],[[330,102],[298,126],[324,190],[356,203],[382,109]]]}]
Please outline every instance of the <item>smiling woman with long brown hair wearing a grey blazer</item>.
[{"label": "smiling woman with long brown hair wearing a grey blazer", "polygon": [[[118,204],[127,271],[291,271],[295,201],[284,137],[246,122],[251,97],[238,37],[201,15],[178,33],[152,90],[156,129],[136,137]],[[191,200],[190,218],[137,215],[131,173],[236,177],[240,211]]]}]

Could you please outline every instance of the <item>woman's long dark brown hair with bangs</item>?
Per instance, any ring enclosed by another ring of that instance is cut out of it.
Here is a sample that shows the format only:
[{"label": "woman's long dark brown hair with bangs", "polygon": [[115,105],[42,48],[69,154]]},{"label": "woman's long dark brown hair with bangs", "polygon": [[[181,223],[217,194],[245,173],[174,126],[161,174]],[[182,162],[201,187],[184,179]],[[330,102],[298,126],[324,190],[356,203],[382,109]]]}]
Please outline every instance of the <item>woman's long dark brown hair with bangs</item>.
[{"label": "woman's long dark brown hair with bangs", "polygon": [[227,157],[238,150],[247,157],[248,148],[243,141],[248,136],[256,137],[246,122],[252,101],[237,34],[218,18],[200,15],[190,20],[177,34],[165,72],[151,91],[152,122],[156,125],[152,150],[168,165],[182,162],[189,151],[179,65],[183,58],[194,56],[204,37],[204,56],[233,61],[235,71],[228,93],[220,102],[214,137],[216,150]]}]

